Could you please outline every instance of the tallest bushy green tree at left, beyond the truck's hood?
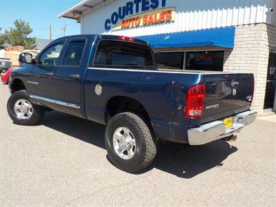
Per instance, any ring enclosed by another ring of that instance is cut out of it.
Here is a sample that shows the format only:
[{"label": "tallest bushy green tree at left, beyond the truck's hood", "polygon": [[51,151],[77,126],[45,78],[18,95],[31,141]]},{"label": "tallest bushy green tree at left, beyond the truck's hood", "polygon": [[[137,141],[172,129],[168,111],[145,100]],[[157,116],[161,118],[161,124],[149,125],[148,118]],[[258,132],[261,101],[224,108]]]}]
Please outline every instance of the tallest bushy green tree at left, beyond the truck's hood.
[{"label": "tallest bushy green tree at left, beyond the truck's hood", "polygon": [[15,28],[10,28],[10,31],[6,30],[6,39],[11,46],[23,46],[24,49],[30,50],[37,46],[36,37],[28,37],[28,34],[32,33],[30,24],[21,19],[14,21]]}]

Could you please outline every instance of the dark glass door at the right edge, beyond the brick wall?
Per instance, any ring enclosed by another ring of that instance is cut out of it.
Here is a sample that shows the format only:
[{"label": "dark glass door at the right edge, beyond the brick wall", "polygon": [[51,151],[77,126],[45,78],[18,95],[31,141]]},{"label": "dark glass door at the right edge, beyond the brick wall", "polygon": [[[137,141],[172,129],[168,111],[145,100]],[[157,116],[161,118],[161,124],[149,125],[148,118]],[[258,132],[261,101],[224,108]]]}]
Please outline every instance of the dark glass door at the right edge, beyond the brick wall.
[{"label": "dark glass door at the right edge, beyond the brick wall", "polygon": [[264,109],[273,108],[276,111],[276,53],[270,52],[268,59],[268,73],[266,79],[266,97],[264,99]]}]

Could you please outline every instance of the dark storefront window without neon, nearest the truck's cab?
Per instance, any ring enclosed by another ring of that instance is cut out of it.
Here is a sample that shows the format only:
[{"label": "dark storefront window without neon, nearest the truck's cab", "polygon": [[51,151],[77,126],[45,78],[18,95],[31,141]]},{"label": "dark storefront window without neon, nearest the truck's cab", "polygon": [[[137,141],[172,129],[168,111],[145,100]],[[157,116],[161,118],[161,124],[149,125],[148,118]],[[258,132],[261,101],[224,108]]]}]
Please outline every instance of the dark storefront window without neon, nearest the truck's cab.
[{"label": "dark storefront window without neon, nearest the truck's cab", "polygon": [[155,53],[157,68],[183,69],[184,52],[159,52]]}]

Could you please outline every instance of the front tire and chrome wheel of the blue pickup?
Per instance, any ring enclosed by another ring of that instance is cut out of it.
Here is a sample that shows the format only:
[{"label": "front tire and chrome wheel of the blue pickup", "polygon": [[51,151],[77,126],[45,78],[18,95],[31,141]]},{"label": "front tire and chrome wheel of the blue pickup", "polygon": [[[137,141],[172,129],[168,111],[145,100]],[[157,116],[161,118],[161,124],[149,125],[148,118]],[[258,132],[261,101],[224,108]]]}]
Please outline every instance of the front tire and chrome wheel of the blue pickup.
[{"label": "front tire and chrome wheel of the blue pickup", "polygon": [[[15,109],[21,105],[28,106],[25,112],[20,113],[20,109]],[[14,124],[33,126],[37,125],[43,119],[45,110],[42,106],[35,105],[30,101],[28,92],[26,90],[19,90],[14,92],[7,103],[8,115]],[[20,115],[19,115],[20,114]]]}]

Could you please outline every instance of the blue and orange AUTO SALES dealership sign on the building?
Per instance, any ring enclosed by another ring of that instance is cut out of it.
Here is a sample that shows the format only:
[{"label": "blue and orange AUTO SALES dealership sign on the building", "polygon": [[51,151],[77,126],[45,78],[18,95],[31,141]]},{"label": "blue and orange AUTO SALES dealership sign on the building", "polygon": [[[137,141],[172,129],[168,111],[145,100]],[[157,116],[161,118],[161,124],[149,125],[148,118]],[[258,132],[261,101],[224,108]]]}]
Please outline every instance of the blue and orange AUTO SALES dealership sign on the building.
[{"label": "blue and orange AUTO SALES dealership sign on the building", "polygon": [[133,0],[106,19],[106,30],[121,30],[175,20],[175,8],[165,8],[166,0]]}]

